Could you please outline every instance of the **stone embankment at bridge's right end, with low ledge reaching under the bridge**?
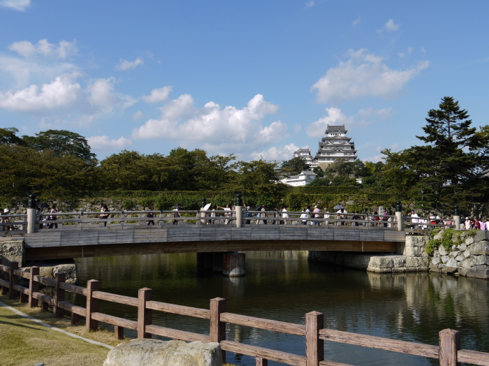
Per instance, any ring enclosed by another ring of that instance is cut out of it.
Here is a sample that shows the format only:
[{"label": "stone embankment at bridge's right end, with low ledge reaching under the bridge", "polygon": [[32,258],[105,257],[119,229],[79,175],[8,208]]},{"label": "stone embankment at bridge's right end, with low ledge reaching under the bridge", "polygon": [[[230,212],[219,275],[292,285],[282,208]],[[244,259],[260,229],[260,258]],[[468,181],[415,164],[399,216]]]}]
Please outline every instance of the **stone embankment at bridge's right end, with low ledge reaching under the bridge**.
[{"label": "stone embankment at bridge's right end, with low ledge reaching under the bridge", "polygon": [[[441,237],[442,233],[438,233],[434,239]],[[489,279],[489,232],[478,231],[474,236],[462,233],[460,237],[462,242],[454,243],[451,251],[439,247],[433,256],[426,253],[429,237],[407,235],[405,245],[397,248],[397,254],[379,256],[309,251],[309,260],[378,273],[430,271]],[[454,237],[454,240],[458,239]]]}]

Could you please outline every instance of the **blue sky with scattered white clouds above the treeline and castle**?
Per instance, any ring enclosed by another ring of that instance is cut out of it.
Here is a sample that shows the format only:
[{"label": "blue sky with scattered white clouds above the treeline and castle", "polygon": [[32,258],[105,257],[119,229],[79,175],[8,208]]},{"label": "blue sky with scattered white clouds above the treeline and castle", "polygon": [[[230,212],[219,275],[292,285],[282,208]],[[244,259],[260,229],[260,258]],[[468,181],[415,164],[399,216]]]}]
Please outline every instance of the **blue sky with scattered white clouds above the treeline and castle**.
[{"label": "blue sky with scattered white clouds above the treeline and castle", "polygon": [[489,2],[0,0],[0,121],[65,129],[98,159],[181,146],[313,154],[344,124],[358,157],[421,145],[453,96],[488,124]]}]

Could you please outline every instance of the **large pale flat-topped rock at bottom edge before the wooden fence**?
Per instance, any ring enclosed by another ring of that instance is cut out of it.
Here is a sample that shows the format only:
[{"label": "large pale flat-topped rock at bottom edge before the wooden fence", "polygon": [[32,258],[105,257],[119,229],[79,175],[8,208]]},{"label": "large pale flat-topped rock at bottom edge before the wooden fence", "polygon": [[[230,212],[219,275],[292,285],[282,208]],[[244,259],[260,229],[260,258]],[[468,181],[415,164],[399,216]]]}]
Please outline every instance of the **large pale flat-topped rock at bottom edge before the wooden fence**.
[{"label": "large pale flat-topped rock at bottom edge before the wooden fence", "polygon": [[133,339],[112,349],[103,366],[221,366],[219,343]]}]

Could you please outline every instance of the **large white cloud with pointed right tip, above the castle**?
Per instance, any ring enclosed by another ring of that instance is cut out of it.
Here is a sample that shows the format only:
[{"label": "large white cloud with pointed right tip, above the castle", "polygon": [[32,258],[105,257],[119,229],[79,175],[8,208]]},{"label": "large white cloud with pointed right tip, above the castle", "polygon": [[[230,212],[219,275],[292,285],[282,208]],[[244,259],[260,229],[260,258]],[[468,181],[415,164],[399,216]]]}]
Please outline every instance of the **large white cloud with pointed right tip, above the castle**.
[{"label": "large white cloud with pointed right tip, above the castle", "polygon": [[393,70],[381,57],[367,54],[367,50],[349,51],[349,59],[330,68],[323,78],[312,86],[318,102],[342,101],[360,96],[395,98],[404,86],[427,68],[429,61],[421,61],[407,70]]}]

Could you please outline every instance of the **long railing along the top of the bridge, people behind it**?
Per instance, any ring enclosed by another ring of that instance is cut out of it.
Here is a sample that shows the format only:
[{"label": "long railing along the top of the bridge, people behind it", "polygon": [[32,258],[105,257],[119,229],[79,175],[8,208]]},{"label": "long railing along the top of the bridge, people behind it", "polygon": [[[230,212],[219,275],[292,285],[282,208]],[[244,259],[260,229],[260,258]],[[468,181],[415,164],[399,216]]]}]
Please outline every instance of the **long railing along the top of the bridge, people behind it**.
[{"label": "long railing along the top of the bridge, people behind it", "polygon": [[[430,219],[428,217],[402,217],[397,222],[395,215],[383,214],[338,214],[329,212],[282,212],[282,211],[245,211],[237,217],[237,211],[222,210],[180,210],[175,211],[110,211],[108,218],[101,217],[103,212],[58,212],[56,214],[36,215],[35,230],[42,228],[73,229],[167,225],[210,225],[235,224],[274,224],[274,225],[316,225],[316,226],[366,226],[369,228],[392,228],[407,230],[409,233],[425,233],[432,228],[453,228],[453,219]],[[153,215],[148,217],[147,215]],[[27,214],[0,216],[0,236],[24,235],[27,233]]]}]

